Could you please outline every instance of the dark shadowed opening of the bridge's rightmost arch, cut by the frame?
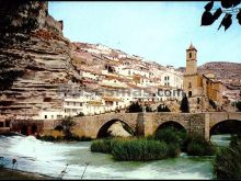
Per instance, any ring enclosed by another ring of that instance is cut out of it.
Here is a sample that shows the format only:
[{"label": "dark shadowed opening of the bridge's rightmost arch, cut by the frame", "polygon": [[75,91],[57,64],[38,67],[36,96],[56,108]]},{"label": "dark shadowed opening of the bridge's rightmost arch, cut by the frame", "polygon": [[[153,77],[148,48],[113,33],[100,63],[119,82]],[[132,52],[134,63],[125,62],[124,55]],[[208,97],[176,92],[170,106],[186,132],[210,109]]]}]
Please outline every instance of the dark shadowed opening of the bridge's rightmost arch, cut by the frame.
[{"label": "dark shadowed opening of the bridge's rightmost arch, cut by the frame", "polygon": [[209,135],[241,133],[241,120],[222,120],[210,127]]}]

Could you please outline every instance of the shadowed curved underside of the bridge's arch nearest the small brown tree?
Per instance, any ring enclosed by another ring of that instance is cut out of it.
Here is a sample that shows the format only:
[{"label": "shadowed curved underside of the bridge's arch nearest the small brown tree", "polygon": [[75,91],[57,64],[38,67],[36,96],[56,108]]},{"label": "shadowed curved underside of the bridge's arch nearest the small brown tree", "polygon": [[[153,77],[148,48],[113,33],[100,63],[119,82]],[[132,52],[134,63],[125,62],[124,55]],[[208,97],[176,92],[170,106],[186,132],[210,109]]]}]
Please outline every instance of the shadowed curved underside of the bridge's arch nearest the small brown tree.
[{"label": "shadowed curved underside of the bridge's arch nearest the small brown tree", "polygon": [[129,126],[125,121],[118,120],[118,118],[113,118],[111,121],[105,122],[103,125],[101,125],[101,128],[99,128],[96,138],[103,138],[103,137],[108,137],[110,133],[108,133],[108,128],[116,122],[120,122],[123,124],[123,127],[125,127],[125,129],[130,133],[130,134],[135,134],[134,129],[131,128],[131,126]]}]

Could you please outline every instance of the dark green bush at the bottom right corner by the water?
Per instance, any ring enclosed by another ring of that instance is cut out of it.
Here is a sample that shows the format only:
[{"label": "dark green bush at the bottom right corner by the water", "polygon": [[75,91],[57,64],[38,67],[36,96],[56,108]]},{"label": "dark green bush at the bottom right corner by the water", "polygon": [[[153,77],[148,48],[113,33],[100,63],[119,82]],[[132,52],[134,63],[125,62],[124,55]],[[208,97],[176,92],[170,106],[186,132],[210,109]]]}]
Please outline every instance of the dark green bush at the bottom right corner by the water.
[{"label": "dark green bush at the bottom right corner by the water", "polygon": [[241,179],[241,134],[232,136],[229,147],[222,147],[218,151],[214,172],[217,179]]}]

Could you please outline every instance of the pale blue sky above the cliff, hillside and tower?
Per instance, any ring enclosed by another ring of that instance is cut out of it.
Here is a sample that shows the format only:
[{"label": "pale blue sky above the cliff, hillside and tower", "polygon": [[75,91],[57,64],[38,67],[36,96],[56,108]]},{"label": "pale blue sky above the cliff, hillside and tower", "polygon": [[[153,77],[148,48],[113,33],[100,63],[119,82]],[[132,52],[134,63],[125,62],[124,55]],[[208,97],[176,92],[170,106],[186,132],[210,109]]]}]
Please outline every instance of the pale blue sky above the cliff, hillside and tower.
[{"label": "pale blue sky above the cliff, hillside and tower", "polygon": [[213,25],[200,26],[207,2],[49,1],[48,12],[64,21],[64,35],[71,42],[103,44],[163,66],[185,67],[191,42],[198,66],[241,63],[241,25],[233,19],[226,32],[218,31],[222,14]]}]

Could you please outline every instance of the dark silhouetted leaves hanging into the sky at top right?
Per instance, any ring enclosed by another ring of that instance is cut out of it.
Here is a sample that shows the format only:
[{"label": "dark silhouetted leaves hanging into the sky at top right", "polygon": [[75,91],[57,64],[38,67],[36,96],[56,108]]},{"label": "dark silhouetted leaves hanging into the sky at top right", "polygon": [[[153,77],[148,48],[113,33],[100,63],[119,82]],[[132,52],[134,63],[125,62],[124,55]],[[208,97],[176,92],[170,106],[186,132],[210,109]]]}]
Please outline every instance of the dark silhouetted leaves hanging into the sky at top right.
[{"label": "dark silhouetted leaves hanging into the sky at top right", "polygon": [[[216,20],[221,16],[223,13],[225,16],[221,20],[221,23],[218,27],[218,30],[221,26],[225,26],[225,31],[227,31],[230,25],[232,24],[232,18],[238,20],[239,24],[241,25],[241,7],[238,8],[241,4],[241,0],[221,0],[221,8],[213,9],[214,8],[214,1],[208,2],[204,9],[204,13],[202,15],[202,23],[200,25],[211,25]],[[215,11],[211,13],[210,11]]]}]

